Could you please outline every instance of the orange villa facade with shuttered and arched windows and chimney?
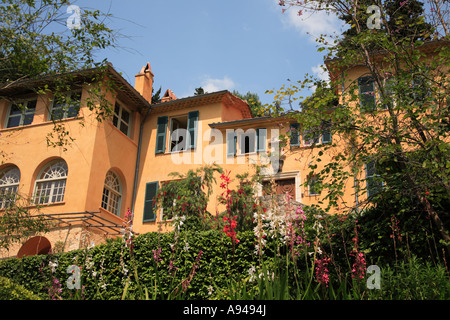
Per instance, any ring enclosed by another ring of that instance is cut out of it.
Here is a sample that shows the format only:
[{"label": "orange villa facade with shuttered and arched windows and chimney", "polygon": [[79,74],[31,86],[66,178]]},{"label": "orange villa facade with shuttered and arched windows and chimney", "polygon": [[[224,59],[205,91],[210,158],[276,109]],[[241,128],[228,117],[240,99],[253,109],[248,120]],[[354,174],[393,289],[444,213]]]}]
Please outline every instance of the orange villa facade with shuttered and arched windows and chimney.
[{"label": "orange villa facade with shuttered and arched windows and chimney", "polygon": [[[340,76],[332,61],[327,66],[332,77]],[[330,131],[325,129],[315,137],[313,148],[311,138],[301,133],[300,124],[293,119],[254,118],[247,102],[226,90],[181,99],[167,90],[161,102],[152,105],[154,76],[148,63],[136,75],[134,87],[112,66],[107,67],[106,77],[116,89],[105,90],[105,97],[114,112],[99,122],[92,108],[95,99],[89,80],[96,72],[74,74],[73,88],[67,92],[72,102],[64,108],[54,103],[51,91],[38,95],[32,90],[53,79],[0,89],[0,97],[4,97],[0,100],[0,194],[29,199],[31,211],[53,222],[50,232],[30,235],[27,242],[0,252],[0,258],[45,253],[57,246],[68,251],[91,241],[102,242],[120,234],[128,210],[134,232],[168,230],[161,225],[162,212],[152,204],[158,187],[173,179],[171,172],[185,174],[205,164],[216,163],[232,177],[254,172],[254,164],[268,164],[262,172],[264,179],[274,178],[278,193],[289,192],[305,205],[323,200],[313,184],[303,183],[321,145],[339,139]],[[364,67],[346,72],[349,81],[358,81],[361,93],[370,91],[376,96]],[[344,83],[346,86],[349,84]],[[336,90],[342,103],[343,92]],[[27,108],[19,109],[8,97],[19,99]],[[50,147],[47,137],[58,124],[70,129],[74,140],[68,146]],[[287,133],[290,138],[276,156],[281,161],[270,158],[268,162],[267,154],[279,150],[279,137]],[[333,157],[342,148],[336,147],[326,156]],[[322,163],[327,159],[322,157]],[[366,178],[374,174],[372,169],[366,168]],[[337,211],[364,200],[355,196],[355,186],[348,183]],[[209,212],[223,210],[220,194],[217,185]],[[0,214],[8,201],[0,200]]]}]

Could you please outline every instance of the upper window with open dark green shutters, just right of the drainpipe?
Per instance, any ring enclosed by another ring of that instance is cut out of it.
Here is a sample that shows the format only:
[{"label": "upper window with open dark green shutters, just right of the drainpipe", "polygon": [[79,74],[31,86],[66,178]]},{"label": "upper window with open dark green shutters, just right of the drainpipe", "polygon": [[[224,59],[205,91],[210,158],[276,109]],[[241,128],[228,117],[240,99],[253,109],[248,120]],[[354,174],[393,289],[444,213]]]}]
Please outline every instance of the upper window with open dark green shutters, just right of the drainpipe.
[{"label": "upper window with open dark green shutters, just right of the drainpipe", "polygon": [[[199,112],[192,111],[187,115],[172,117],[169,126],[170,152],[195,149],[197,145],[197,131]],[[166,135],[169,118],[158,117],[156,128],[155,153],[164,153],[166,150]]]}]

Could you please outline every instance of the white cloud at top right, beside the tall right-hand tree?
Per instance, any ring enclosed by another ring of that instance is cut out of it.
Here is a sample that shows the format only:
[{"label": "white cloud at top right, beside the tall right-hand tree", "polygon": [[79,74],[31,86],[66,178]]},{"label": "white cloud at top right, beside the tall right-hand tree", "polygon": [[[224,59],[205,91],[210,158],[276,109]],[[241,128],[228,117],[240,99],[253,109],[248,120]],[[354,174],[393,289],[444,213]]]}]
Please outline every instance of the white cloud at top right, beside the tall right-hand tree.
[{"label": "white cloud at top right, beside the tall right-hand tree", "polygon": [[[314,4],[308,2],[308,5],[313,6]],[[284,25],[297,29],[302,35],[309,34],[311,41],[315,41],[321,34],[324,34],[326,40],[332,43],[334,38],[332,39],[330,36],[339,35],[343,31],[344,23],[333,13],[327,13],[324,10],[306,10],[297,6],[280,8],[287,9],[284,14],[281,14]],[[302,10],[301,15],[298,14],[299,10]]]}]

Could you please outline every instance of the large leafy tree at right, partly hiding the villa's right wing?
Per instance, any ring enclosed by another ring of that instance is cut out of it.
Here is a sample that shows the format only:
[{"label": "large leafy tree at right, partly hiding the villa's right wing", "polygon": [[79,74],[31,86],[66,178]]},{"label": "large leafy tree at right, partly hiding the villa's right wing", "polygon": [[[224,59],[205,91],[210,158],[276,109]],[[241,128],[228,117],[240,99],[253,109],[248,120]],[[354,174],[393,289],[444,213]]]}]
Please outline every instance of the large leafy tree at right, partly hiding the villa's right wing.
[{"label": "large leafy tree at right, partly hiding the villa's right wing", "polygon": [[[316,171],[329,208],[337,206],[349,181],[357,195],[368,195],[368,201],[355,202],[349,210],[370,206],[387,193],[413,199],[429,215],[450,254],[450,213],[443,207],[450,199],[450,45],[448,20],[442,19],[449,4],[433,1],[439,7],[426,14],[425,21],[418,1],[405,0],[397,8],[395,1],[375,3],[382,13],[380,30],[365,27],[360,1],[281,3],[346,17],[352,30],[351,37],[350,32],[344,35],[345,41],[319,48],[328,50],[330,87],[340,91],[340,104],[332,108],[318,95],[316,103],[296,115],[302,130],[314,130],[326,120],[337,137],[332,144],[321,146],[310,168]],[[404,29],[397,32],[394,25]],[[434,34],[429,41],[430,30],[444,34]],[[366,70],[359,80],[349,78],[347,72],[356,64]],[[317,86],[318,81],[307,78],[300,83]],[[302,86],[283,87],[275,104],[283,97],[291,99]],[[372,89],[362,93],[364,87]],[[336,147],[342,151],[320,168],[322,156],[339,150]],[[366,184],[368,167],[371,180]]]}]

